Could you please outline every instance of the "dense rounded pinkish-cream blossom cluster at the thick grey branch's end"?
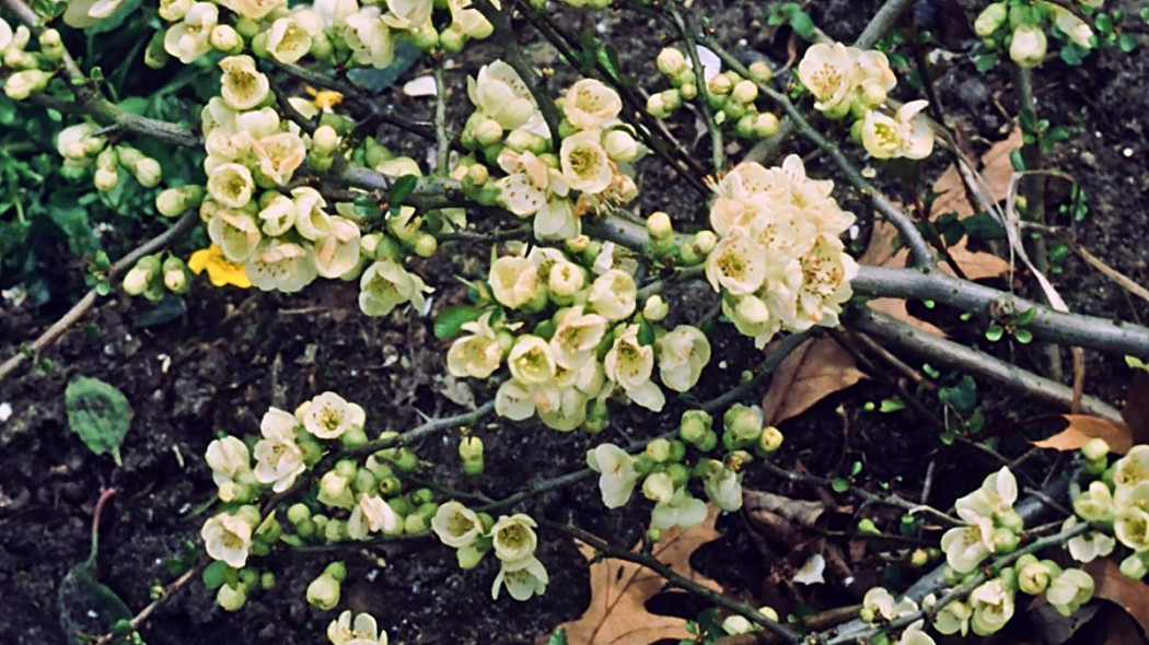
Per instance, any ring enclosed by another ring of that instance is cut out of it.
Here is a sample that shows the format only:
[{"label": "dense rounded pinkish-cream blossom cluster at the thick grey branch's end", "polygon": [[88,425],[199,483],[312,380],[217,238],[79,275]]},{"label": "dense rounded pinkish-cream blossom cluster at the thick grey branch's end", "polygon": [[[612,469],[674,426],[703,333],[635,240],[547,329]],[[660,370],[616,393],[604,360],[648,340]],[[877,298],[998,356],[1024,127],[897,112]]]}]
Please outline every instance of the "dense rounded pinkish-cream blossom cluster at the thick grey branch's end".
[{"label": "dense rounded pinkish-cream blossom cluster at the thick grey branch's end", "polygon": [[710,225],[719,241],[707,279],[723,295],[723,313],[757,347],[779,331],[838,325],[853,295],[857,264],[839,235],[854,215],[832,189],[808,178],[794,155],[781,168],[739,164],[714,187]]}]

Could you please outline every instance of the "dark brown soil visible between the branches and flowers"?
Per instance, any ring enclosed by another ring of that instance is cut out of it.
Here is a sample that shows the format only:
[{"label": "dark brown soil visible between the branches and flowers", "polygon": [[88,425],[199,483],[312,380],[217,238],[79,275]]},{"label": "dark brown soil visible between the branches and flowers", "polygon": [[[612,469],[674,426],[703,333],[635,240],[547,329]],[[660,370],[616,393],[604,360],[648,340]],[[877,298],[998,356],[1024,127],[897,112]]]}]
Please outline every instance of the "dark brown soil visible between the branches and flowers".
[{"label": "dark brown soil visible between the branches and flowers", "polygon": [[[694,7],[704,10],[728,47],[753,47],[785,60],[788,31],[764,26],[769,5],[700,0]],[[851,40],[881,2],[828,0],[809,5],[817,24],[827,33]],[[915,9],[917,18],[928,23],[936,17],[936,11],[931,13],[932,2],[919,5]],[[1136,3],[1124,5],[1132,9]],[[623,68],[642,81],[656,79],[654,53],[669,34],[653,22],[626,13],[564,11],[563,16],[568,21],[564,24],[572,29],[589,29],[599,20],[602,37],[618,47]],[[936,26],[931,46],[943,37],[948,36]],[[970,40],[958,36],[948,47],[954,55],[939,67],[939,98],[944,112],[956,119],[978,149],[985,149],[1004,138],[1011,126],[1009,115],[1016,114],[1010,77],[1003,69],[977,75],[967,55]],[[462,72],[473,72],[493,52],[489,46],[476,47],[460,61],[461,71],[450,77],[457,106],[463,104],[464,96]],[[547,53],[535,50],[533,55],[545,57]],[[1036,77],[1039,111],[1055,124],[1073,127],[1072,139],[1057,147],[1051,163],[1089,192],[1090,212],[1077,226],[1078,239],[1139,283],[1149,283],[1149,256],[1141,244],[1149,231],[1147,71],[1149,53],[1142,46],[1131,55],[1113,49],[1094,54],[1084,68],[1054,61]],[[900,95],[909,92],[903,83]],[[398,100],[410,103],[407,107],[411,110],[427,109],[417,100]],[[693,117],[681,115],[673,131],[691,147],[692,155],[704,160],[709,157],[708,139],[696,131],[696,125]],[[396,147],[402,147],[401,142]],[[800,143],[788,149],[809,153]],[[425,154],[422,147],[414,151]],[[733,158],[740,154],[732,151]],[[851,155],[865,163],[857,147],[851,147]],[[827,162],[816,155],[808,158],[811,174],[833,176]],[[939,158],[927,172],[936,173],[944,165]],[[643,212],[665,208],[676,218],[679,213],[689,218],[704,207],[653,157],[643,163],[640,186],[639,205]],[[1056,204],[1058,193],[1051,191],[1051,203]],[[858,213],[863,224],[871,218],[856,194],[840,188],[838,197]],[[865,226],[859,243],[864,234]],[[457,282],[446,277],[475,274],[475,266],[468,248],[455,248],[425,267],[424,275],[439,289],[437,309],[463,297]],[[60,285],[79,293],[78,272],[45,270]],[[1149,314],[1144,303],[1131,301],[1073,257],[1065,261],[1056,282],[1075,311],[1128,320],[1142,320]],[[1027,288],[1024,280],[1018,286]],[[0,311],[0,356],[10,355],[64,308],[60,298],[40,310],[6,306]],[[194,511],[215,491],[202,454],[217,432],[253,434],[269,405],[294,406],[329,389],[361,403],[369,427],[376,429],[412,427],[419,422],[416,411],[438,415],[461,410],[442,394],[450,389],[452,396],[458,397],[457,388],[441,381],[446,348],[434,340],[431,319],[417,318],[409,311],[383,319],[365,318],[355,306],[354,286],[323,282],[296,297],[199,288],[187,298],[185,316],[162,326],[140,327],[137,317],[147,308],[142,302],[106,300],[84,325],[47,352],[55,365],[53,371],[24,372],[0,386],[0,402],[9,403],[14,411],[11,418],[0,422],[0,598],[5,599],[0,604],[0,638],[5,643],[67,643],[57,620],[56,590],[69,568],[87,553],[93,506],[103,487],[115,487],[118,495],[103,521],[99,577],[138,609],[148,603],[153,585],[173,577],[170,560],[199,533],[203,516]],[[924,314],[959,340],[987,344],[979,341],[982,328],[959,322],[957,312]],[[726,359],[725,368],[708,368],[697,394],[702,399],[724,391],[741,370],[757,359],[753,351],[746,351],[749,344],[743,339],[723,333],[715,342],[719,345],[716,356]],[[1000,343],[986,349],[1027,368],[1039,365],[1033,348]],[[76,375],[103,379],[131,401],[136,418],[123,446],[122,467],[115,467],[110,458],[91,454],[68,429],[63,390]],[[1089,357],[1088,391],[1120,404],[1126,381],[1127,372],[1119,358]],[[992,386],[979,384],[989,432],[1041,412]],[[470,389],[480,402],[492,394],[481,384],[471,383]],[[825,399],[782,427],[787,444],[779,463],[801,464],[811,473],[839,476],[857,460],[866,466],[866,480],[889,481],[902,475],[895,488],[912,495],[932,460],[936,464],[935,500],[953,498],[996,467],[985,454],[969,448],[942,446],[935,434],[924,430],[909,412],[863,411],[866,402],[889,396],[888,388],[864,382]],[[930,405],[936,407],[935,403]],[[627,443],[664,432],[677,425],[683,409],[680,403],[670,405],[666,413],[653,418],[619,410],[601,441]],[[537,423],[483,425],[476,432],[487,445],[487,472],[476,485],[495,496],[525,483],[524,474],[542,479],[580,467],[585,449],[600,441],[583,434],[549,432]],[[1001,438],[1003,453],[1016,456],[1024,450],[1025,437],[1017,432]],[[417,452],[442,464],[445,473],[454,473],[445,476],[457,477],[455,445],[454,435],[447,434],[427,440]],[[1046,466],[1041,459],[1030,461],[1039,476]],[[751,474],[747,483],[809,496],[809,491],[793,490],[761,473]],[[641,516],[647,512],[645,502],[633,503],[629,511],[606,512],[591,481],[535,498],[529,508],[553,520],[574,518],[588,530],[625,544],[637,539]],[[786,554],[763,550],[738,515],[724,518],[719,528],[726,537],[717,547],[704,549],[696,564],[735,593],[762,600],[772,593],[771,589],[777,591],[778,585],[769,583],[769,578]],[[303,590],[332,557],[284,554],[272,567],[278,576],[276,589],[256,593],[237,615],[221,611],[215,595],[206,592],[199,582],[193,583],[160,611],[142,634],[153,645],[325,642],[322,634],[331,615],[308,606]],[[496,568],[492,559],[476,570],[462,572],[453,552],[433,542],[414,544],[402,553],[352,549],[339,557],[349,568],[344,588],[347,606],[373,613],[392,643],[398,644],[534,643],[555,624],[580,615],[589,598],[584,559],[569,539],[547,530],[540,535],[539,557],[550,573],[550,586],[541,599],[525,604],[506,596],[491,601]],[[856,593],[856,588],[832,584],[820,598],[799,601],[828,603]]]}]

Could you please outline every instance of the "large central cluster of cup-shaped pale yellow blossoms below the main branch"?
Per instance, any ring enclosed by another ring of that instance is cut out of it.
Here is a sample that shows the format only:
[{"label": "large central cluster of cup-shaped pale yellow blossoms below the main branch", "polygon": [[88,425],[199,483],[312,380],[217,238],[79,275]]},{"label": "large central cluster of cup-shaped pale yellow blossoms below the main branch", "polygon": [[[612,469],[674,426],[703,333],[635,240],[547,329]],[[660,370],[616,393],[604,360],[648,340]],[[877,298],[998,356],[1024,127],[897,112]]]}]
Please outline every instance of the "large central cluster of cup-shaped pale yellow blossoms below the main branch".
[{"label": "large central cluster of cup-shaped pale yellow blossoms below the main branch", "polygon": [[[493,262],[489,297],[480,303],[487,310],[463,326],[468,333],[447,352],[456,378],[486,379],[506,363],[510,378],[495,395],[502,417],[538,414],[557,430],[599,432],[612,394],[658,412],[666,398],[653,380],[655,367],[663,386],[687,391],[710,360],[701,331],[655,324],[666,314],[661,297],[639,309],[634,277],[614,244],[599,246],[594,255],[589,243],[568,248],[579,246],[583,252],[534,247]],[[516,313],[533,319],[530,333],[511,320]]]}]

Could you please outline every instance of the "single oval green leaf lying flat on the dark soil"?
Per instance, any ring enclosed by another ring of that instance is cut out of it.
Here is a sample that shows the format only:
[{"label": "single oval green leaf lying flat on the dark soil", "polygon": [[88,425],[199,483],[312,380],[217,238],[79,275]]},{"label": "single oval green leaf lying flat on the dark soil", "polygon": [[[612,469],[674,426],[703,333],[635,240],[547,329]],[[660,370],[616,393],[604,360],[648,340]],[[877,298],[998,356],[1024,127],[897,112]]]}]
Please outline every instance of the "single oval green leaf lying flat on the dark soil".
[{"label": "single oval green leaf lying flat on the dark soil", "polygon": [[110,452],[119,466],[119,444],[133,414],[128,397],[99,379],[77,376],[64,390],[64,405],[72,432],[95,454]]}]

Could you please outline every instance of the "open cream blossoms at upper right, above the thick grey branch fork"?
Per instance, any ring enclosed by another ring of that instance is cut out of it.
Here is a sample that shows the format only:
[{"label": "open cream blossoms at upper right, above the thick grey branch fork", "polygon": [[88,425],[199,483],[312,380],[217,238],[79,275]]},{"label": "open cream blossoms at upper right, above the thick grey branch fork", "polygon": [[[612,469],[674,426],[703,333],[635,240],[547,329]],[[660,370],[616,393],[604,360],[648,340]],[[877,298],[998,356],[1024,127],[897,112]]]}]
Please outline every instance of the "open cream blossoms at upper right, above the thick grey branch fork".
[{"label": "open cream blossoms at upper right, above the thick grey branch fork", "polygon": [[874,158],[924,160],[933,151],[933,131],[923,114],[928,102],[884,107],[897,78],[881,52],[819,42],[805,50],[797,76],[813,95],[815,109],[833,119],[853,119],[850,135]]}]

